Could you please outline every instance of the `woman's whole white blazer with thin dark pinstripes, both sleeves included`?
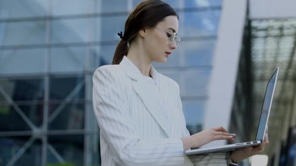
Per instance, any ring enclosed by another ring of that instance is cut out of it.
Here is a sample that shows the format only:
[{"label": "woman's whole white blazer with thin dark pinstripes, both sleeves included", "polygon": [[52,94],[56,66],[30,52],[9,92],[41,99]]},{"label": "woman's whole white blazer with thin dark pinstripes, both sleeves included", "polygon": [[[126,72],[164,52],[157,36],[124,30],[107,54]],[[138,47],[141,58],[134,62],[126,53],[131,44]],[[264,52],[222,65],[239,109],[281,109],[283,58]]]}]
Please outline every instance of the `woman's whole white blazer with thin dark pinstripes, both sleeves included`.
[{"label": "woman's whole white blazer with thin dark pinstripes, both sleeves included", "polygon": [[226,155],[185,156],[189,135],[179,85],[151,66],[156,86],[124,56],[93,75],[93,108],[100,128],[102,166],[226,166]]}]

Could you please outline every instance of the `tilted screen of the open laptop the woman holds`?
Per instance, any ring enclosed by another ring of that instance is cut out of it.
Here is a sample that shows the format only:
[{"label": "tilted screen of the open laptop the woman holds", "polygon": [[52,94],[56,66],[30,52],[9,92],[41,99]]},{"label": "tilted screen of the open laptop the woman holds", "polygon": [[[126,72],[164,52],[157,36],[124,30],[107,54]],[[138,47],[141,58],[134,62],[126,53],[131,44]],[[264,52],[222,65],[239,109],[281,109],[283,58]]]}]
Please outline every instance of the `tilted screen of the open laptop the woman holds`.
[{"label": "tilted screen of the open laptop the woman holds", "polygon": [[[277,68],[277,70],[278,70],[278,68]],[[264,138],[263,136],[264,136],[264,132],[265,132],[265,126],[267,125],[266,121],[268,119],[268,112],[271,107],[274,86],[275,86],[276,79],[277,79],[277,72],[278,72],[277,70],[275,71],[274,75],[267,83],[265,97],[264,97],[263,106],[262,106],[262,110],[261,110],[261,116],[260,116],[258,130],[257,130],[256,140],[262,140],[262,138]]]}]

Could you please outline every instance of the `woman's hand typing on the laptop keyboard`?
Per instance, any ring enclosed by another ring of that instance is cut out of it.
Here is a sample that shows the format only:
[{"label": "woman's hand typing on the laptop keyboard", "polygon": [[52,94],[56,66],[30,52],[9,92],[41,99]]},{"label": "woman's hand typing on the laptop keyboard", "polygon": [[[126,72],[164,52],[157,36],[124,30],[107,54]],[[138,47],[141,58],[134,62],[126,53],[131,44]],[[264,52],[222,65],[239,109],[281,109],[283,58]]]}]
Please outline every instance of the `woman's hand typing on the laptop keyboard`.
[{"label": "woman's hand typing on the laptop keyboard", "polygon": [[229,140],[233,142],[235,136],[236,134],[227,133],[227,131],[221,126],[183,137],[181,140],[183,141],[184,150],[187,150],[189,148],[199,148],[215,140]]}]

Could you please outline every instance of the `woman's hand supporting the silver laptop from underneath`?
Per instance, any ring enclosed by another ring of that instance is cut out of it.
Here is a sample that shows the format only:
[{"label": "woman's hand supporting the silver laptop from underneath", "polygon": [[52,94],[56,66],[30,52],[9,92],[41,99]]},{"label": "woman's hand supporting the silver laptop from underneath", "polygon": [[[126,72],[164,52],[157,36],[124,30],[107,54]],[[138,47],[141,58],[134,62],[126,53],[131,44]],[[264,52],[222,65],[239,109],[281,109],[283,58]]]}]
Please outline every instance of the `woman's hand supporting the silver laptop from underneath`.
[{"label": "woman's hand supporting the silver laptop from underneath", "polygon": [[260,152],[262,152],[264,150],[265,145],[267,145],[268,143],[269,143],[268,142],[268,128],[266,128],[264,141],[260,145],[254,146],[254,147],[245,147],[245,148],[235,149],[231,153],[230,159],[234,163],[239,163],[240,161],[242,161],[248,157],[251,157],[255,154],[259,154]]}]

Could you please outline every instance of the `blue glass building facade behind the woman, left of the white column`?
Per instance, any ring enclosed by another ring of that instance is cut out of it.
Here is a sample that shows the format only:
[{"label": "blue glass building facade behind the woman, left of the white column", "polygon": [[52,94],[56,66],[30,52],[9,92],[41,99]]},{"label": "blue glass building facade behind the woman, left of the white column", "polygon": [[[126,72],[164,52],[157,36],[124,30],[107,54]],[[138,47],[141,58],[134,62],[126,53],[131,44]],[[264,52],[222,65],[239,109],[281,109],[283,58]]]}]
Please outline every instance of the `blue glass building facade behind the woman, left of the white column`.
[{"label": "blue glass building facade behind the woman, left of the white column", "polygon": [[[0,0],[0,166],[100,165],[92,75],[141,0]],[[182,43],[153,64],[180,85],[190,133],[201,131],[222,0],[165,0]]]}]

